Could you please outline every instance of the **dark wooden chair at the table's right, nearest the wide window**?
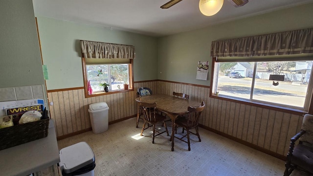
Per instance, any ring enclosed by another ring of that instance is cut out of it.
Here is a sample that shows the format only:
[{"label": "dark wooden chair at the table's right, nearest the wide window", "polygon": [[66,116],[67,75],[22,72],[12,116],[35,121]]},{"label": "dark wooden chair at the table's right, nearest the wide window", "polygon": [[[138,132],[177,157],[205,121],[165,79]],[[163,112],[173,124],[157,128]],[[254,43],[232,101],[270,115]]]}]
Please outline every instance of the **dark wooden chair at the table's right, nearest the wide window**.
[{"label": "dark wooden chair at the table's right, nearest the wide window", "polygon": [[[187,117],[186,118],[179,118],[179,119],[175,120],[175,127],[174,128],[177,130],[178,127],[182,127],[184,130],[187,131],[187,133],[182,137],[177,137],[174,134],[174,137],[183,141],[183,142],[188,143],[188,151],[190,151],[190,137],[189,137],[190,133],[197,135],[199,138],[199,142],[201,142],[198,124],[199,124],[200,115],[201,115],[202,111],[204,110],[204,107],[205,107],[205,104],[203,101],[202,101],[200,107],[188,107],[189,112],[188,112]],[[191,129],[195,129],[196,133],[190,132]],[[186,136],[187,136],[187,141],[185,141],[183,139]],[[171,140],[172,140],[172,138],[171,138]]]}]

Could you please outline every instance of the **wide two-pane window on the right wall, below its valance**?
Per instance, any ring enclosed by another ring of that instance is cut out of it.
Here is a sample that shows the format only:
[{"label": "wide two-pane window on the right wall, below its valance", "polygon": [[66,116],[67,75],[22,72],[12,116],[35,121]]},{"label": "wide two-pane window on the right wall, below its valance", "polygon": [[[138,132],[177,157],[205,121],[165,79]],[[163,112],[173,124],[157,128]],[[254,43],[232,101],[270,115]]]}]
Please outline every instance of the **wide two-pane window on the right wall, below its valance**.
[{"label": "wide two-pane window on the right wall, below its valance", "polygon": [[[313,61],[281,60],[214,62],[212,94],[218,92],[224,98],[308,110]],[[282,75],[283,80],[270,79],[270,75]]]}]

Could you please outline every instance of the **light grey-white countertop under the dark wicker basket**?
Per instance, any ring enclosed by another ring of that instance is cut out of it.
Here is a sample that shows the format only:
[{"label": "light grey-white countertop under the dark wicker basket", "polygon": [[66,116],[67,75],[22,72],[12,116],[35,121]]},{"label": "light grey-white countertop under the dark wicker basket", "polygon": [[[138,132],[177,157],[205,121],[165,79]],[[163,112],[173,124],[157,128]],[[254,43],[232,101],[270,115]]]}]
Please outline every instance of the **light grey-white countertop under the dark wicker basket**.
[{"label": "light grey-white countertop under the dark wicker basket", "polygon": [[1,176],[26,176],[60,162],[53,120],[48,136],[0,151]]}]

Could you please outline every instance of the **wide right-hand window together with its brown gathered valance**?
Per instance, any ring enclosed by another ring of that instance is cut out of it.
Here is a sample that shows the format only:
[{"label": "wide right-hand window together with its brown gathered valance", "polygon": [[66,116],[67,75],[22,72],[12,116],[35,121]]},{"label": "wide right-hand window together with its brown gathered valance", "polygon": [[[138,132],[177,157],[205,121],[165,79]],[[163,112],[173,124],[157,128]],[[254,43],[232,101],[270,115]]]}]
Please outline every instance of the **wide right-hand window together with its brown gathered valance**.
[{"label": "wide right-hand window together with its brown gathered valance", "polygon": [[313,28],[213,41],[217,97],[313,112]]}]

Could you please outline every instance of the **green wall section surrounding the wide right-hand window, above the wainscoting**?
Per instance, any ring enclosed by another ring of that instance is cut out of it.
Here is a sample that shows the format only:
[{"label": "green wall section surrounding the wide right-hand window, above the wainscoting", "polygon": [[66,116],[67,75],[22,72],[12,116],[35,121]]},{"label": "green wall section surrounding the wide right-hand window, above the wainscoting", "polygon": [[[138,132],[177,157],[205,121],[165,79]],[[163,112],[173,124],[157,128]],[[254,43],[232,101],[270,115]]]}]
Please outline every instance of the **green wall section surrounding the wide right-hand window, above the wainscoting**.
[{"label": "green wall section surrounding the wide right-hand window, above the wainscoting", "polygon": [[[209,61],[211,42],[313,27],[313,3],[221,23],[158,39],[158,79],[210,85],[196,80],[197,62]],[[209,17],[208,17],[209,18]]]}]

